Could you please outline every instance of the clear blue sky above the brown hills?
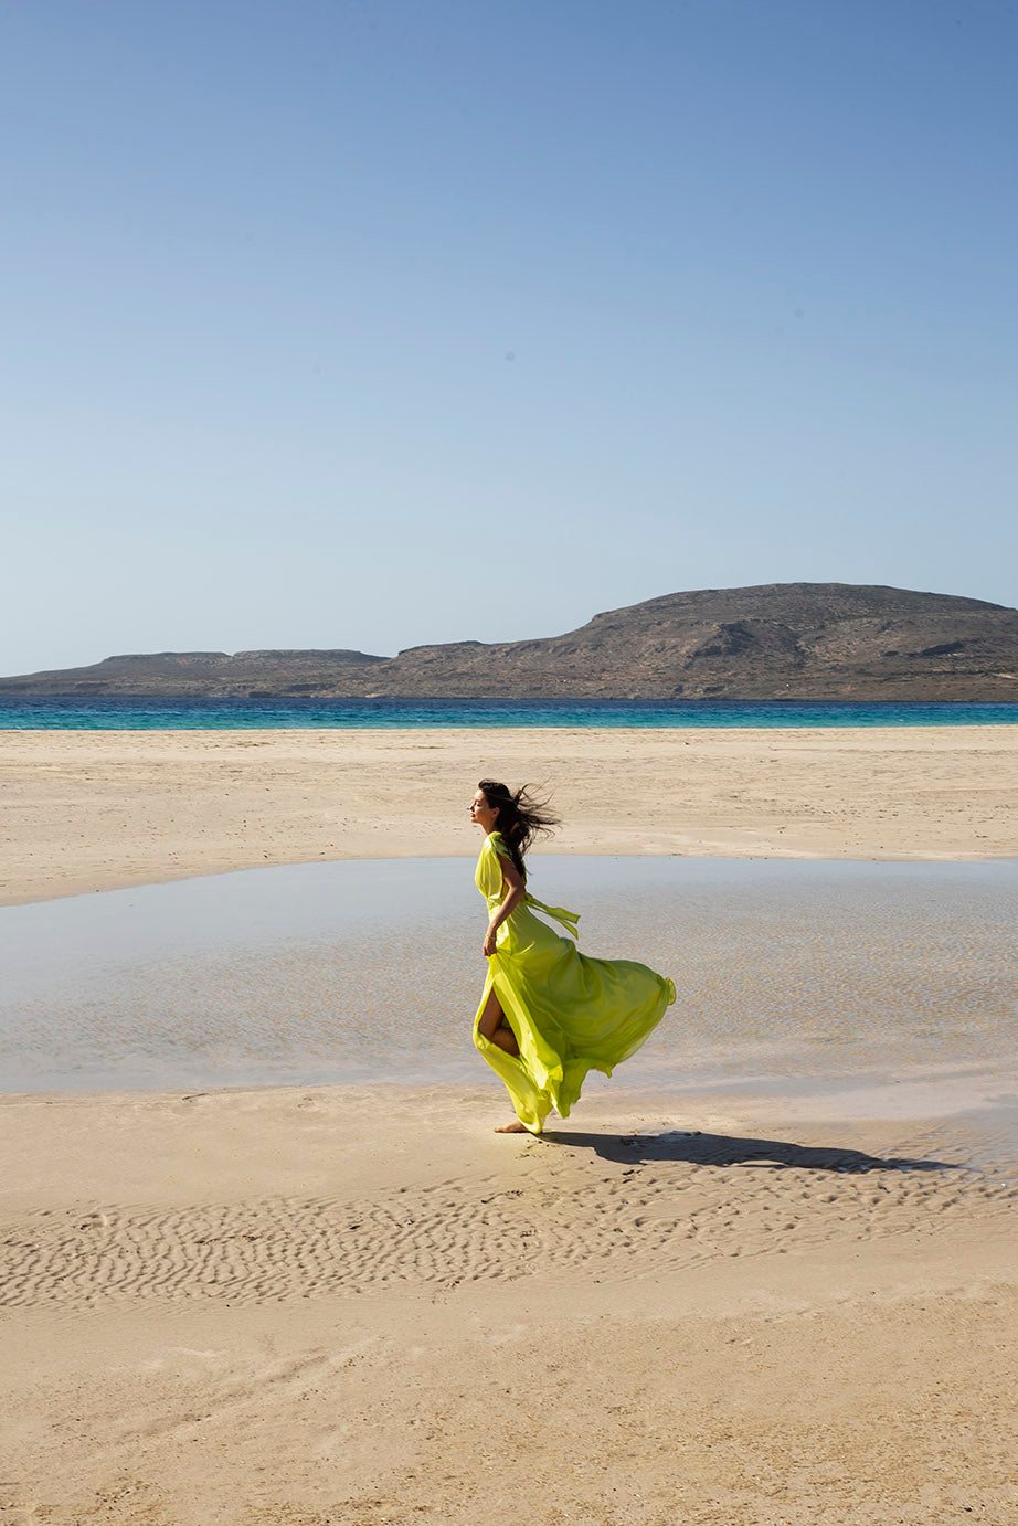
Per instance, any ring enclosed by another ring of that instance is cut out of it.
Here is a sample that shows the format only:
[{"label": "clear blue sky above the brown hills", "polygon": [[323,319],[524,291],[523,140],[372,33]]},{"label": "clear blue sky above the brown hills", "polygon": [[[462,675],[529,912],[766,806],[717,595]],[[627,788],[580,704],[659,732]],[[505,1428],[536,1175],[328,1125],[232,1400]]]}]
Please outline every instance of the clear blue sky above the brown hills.
[{"label": "clear blue sky above the brown hills", "polygon": [[0,3],[0,673],[1018,603],[1018,8]]}]

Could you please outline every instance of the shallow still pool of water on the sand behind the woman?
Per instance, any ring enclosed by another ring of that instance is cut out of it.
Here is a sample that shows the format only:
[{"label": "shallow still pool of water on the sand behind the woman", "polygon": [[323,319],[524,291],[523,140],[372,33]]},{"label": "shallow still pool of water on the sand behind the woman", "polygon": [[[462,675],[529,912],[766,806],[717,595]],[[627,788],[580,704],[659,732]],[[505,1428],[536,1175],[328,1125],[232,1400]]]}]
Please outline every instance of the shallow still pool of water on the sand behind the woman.
[{"label": "shallow still pool of water on the sand behind the woman", "polygon": [[[0,1090],[490,1080],[472,871],[307,864],[2,908]],[[852,1090],[879,1112],[904,1085],[952,1111],[1018,1053],[1018,861],[540,855],[531,887],[581,911],[586,954],[675,978],[627,1088]]]}]

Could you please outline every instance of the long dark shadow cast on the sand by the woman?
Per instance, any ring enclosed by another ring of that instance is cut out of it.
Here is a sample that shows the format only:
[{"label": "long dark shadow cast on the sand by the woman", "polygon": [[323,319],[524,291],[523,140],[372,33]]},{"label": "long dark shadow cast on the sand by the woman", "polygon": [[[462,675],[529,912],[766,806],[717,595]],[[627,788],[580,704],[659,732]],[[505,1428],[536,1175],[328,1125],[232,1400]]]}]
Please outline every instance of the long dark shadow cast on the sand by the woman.
[{"label": "long dark shadow cast on the sand by the woman", "polygon": [[563,1134],[546,1129],[548,1144],[569,1149],[591,1149],[601,1160],[623,1166],[652,1164],[662,1160],[685,1160],[691,1166],[763,1166],[783,1170],[960,1170],[955,1161],[911,1160],[899,1155],[867,1155],[858,1149],[838,1146],[792,1144],[789,1140],[736,1138],[731,1134],[701,1134],[670,1129],[665,1134]]}]

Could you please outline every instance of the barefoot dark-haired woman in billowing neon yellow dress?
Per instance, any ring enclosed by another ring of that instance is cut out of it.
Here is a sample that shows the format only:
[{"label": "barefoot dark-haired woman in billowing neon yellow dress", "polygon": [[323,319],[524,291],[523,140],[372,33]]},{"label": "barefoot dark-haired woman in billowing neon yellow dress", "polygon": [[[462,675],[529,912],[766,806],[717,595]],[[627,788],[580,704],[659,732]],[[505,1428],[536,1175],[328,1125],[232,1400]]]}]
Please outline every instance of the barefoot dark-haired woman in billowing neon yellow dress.
[{"label": "barefoot dark-haired woman in billowing neon yellow dress", "polygon": [[[675,1001],[675,986],[632,960],[588,958],[571,938],[577,914],[527,893],[523,853],[557,818],[525,789],[482,778],[470,819],[484,832],[475,884],[488,905],[484,955],[488,978],[473,1042],[502,1077],[516,1122],[496,1134],[540,1134],[580,1096],[588,1070],[612,1074],[633,1054]],[[571,937],[534,916],[543,911]]]}]

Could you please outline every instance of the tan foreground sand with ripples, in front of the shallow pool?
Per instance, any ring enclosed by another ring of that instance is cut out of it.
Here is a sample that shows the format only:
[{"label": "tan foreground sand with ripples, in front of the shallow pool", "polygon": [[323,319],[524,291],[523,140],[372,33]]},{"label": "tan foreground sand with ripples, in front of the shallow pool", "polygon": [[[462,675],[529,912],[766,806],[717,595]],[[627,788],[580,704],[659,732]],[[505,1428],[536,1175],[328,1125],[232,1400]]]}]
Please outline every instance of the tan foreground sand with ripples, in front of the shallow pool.
[{"label": "tan foreground sand with ripples, in front of the shallow pool", "polygon": [[6,1099],[3,1520],[1015,1518],[1013,1170],[916,1117],[491,1102]]}]

